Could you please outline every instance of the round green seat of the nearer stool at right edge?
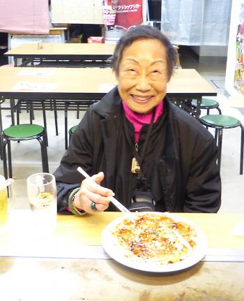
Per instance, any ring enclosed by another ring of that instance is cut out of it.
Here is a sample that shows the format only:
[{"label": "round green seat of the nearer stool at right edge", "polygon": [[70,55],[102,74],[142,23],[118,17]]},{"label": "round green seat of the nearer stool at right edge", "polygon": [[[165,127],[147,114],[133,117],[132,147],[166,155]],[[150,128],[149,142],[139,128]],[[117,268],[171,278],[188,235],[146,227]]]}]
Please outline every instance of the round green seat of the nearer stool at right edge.
[{"label": "round green seat of the nearer stool at right edge", "polygon": [[201,117],[201,122],[206,126],[213,126],[215,128],[231,129],[240,126],[241,122],[238,119],[228,115],[206,115]]}]

